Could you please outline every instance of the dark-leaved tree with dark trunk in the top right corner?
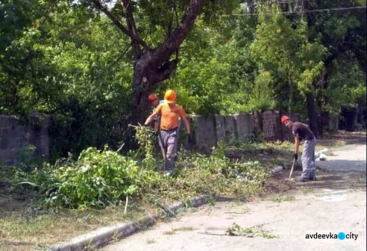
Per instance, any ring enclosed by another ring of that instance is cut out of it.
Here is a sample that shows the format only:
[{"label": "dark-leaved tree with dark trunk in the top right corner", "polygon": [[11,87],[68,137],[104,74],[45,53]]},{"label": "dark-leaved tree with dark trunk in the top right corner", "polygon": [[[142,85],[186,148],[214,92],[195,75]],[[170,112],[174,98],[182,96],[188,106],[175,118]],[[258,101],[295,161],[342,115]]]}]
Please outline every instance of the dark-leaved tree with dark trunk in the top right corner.
[{"label": "dark-leaved tree with dark trunk in the top right corner", "polygon": [[[296,5],[297,2],[287,3],[288,9],[284,10],[295,9]],[[353,68],[354,62],[358,62],[360,70],[366,74],[366,7],[364,5],[365,1],[362,0],[308,0],[304,1],[302,6],[298,6],[300,14],[307,18],[309,38],[320,39],[328,49],[327,57],[323,60],[322,78],[319,83],[315,83],[319,95],[315,97],[309,95],[307,100],[308,108],[312,110],[314,98],[316,99],[319,118],[313,116],[310,122],[313,125],[319,124],[316,127],[321,135],[323,129],[328,127],[329,112],[332,109],[339,109],[339,106],[330,106],[331,101],[327,96],[336,61],[345,62],[345,59],[348,59],[350,69]],[[291,14],[288,18],[295,19],[297,14]],[[339,100],[343,100],[341,96],[344,96],[344,93],[340,93]]]}]

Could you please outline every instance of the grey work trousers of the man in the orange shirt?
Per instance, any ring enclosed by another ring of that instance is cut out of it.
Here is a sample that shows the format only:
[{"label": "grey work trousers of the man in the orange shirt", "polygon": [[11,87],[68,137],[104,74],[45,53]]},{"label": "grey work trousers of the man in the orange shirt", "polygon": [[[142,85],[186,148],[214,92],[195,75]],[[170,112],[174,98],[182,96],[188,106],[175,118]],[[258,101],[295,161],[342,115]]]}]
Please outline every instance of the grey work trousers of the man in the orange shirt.
[{"label": "grey work trousers of the man in the orange shirt", "polygon": [[164,159],[164,169],[175,168],[175,157],[177,152],[178,129],[161,130],[158,137]]}]

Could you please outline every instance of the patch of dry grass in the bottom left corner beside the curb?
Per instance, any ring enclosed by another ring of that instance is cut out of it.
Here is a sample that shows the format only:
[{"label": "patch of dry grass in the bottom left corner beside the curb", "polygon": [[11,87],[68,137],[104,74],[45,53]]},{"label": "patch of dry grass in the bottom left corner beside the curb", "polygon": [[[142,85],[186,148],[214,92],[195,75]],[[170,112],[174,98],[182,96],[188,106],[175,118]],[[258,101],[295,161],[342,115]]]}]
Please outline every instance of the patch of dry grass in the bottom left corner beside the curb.
[{"label": "patch of dry grass in the bottom left corner beside the curb", "polygon": [[[12,250],[12,246],[16,247],[14,250],[20,251],[46,246],[99,227],[138,220],[145,216],[141,209],[124,214],[124,207],[108,207],[103,210],[48,210],[43,213],[32,211],[34,210],[15,212],[0,221],[0,243],[20,244],[7,245],[9,250]],[[20,241],[28,242],[29,245],[23,245]]]}]

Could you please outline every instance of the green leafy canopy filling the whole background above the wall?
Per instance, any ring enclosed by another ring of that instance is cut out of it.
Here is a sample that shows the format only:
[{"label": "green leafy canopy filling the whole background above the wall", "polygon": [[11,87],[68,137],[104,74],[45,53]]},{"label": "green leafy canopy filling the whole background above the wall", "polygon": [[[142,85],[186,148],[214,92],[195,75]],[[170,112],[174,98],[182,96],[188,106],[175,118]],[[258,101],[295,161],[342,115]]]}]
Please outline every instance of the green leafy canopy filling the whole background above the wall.
[{"label": "green leafy canopy filling the whole background above the wall", "polygon": [[[159,45],[170,32],[171,18],[171,32],[177,25],[172,4],[180,18],[187,3],[132,1],[139,35],[150,46]],[[161,97],[166,88],[174,88],[178,103],[192,114],[289,106],[305,114],[303,94],[310,91],[318,106],[334,113],[341,104],[365,106],[364,9],[298,15],[281,13],[272,4],[239,3],[206,1],[180,48],[177,69],[156,85]],[[303,8],[363,4],[311,1]],[[259,15],[248,15],[248,7]],[[126,24],[119,2],[111,11]],[[227,15],[231,13],[245,15]],[[132,148],[133,137],[126,130],[132,98],[131,41],[110,22],[95,12],[91,0],[1,2],[0,113],[52,115],[53,160],[68,152],[78,156],[89,146],[102,149],[107,143],[116,148],[121,140]],[[328,86],[322,84],[324,70]]]}]

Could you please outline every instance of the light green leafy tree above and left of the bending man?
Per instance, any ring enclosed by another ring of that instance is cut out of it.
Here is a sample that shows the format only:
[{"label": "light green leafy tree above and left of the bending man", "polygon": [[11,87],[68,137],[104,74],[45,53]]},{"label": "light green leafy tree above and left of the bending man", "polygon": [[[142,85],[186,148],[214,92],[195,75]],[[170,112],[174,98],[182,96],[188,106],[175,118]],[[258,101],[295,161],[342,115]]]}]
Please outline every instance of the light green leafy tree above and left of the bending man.
[{"label": "light green leafy tree above and left of the bending man", "polygon": [[[319,41],[308,40],[306,25],[303,19],[291,22],[274,8],[272,15],[260,15],[260,24],[251,44],[259,70],[252,94],[255,108],[294,107],[297,88],[303,94],[314,91],[313,82],[321,75],[326,48]],[[262,86],[261,91],[256,88],[258,85]]]}]

